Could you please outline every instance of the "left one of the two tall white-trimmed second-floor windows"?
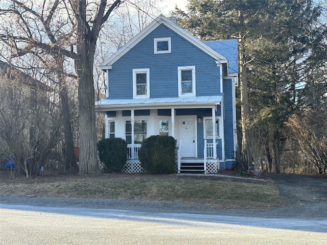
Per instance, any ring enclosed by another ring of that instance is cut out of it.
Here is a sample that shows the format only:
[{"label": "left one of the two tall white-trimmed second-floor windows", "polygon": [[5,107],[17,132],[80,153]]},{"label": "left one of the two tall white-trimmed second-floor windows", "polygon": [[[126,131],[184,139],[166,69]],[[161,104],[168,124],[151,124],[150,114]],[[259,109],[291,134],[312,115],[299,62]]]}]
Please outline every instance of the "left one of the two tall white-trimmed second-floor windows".
[{"label": "left one of the two tall white-trimmed second-floor windows", "polygon": [[150,69],[133,69],[133,99],[150,98]]}]

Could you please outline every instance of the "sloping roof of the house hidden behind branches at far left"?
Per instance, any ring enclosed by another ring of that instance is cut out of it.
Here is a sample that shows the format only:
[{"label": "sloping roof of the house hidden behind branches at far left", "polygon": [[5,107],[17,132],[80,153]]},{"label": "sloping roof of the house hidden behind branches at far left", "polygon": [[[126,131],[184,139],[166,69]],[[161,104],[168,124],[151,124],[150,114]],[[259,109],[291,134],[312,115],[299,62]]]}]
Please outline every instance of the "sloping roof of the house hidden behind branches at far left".
[{"label": "sloping roof of the house hidden behind branches at far left", "polygon": [[11,79],[17,78],[20,82],[30,86],[38,87],[43,90],[51,89],[48,85],[32,78],[31,76],[25,74],[24,72],[13,67],[11,64],[8,64],[2,60],[0,60],[0,71],[2,71],[4,75],[10,77]]}]

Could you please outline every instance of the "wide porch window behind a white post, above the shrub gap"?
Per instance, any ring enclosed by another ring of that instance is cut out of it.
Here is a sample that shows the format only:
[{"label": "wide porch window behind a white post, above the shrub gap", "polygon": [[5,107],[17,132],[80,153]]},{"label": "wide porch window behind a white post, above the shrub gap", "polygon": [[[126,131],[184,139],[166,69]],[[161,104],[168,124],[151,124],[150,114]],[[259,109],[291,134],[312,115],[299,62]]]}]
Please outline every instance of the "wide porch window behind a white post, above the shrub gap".
[{"label": "wide porch window behind a white post, above the shrub gap", "polygon": [[[132,143],[132,124],[130,120],[125,123],[125,136],[126,143]],[[134,121],[134,143],[140,144],[144,139],[147,138],[147,121],[146,120],[135,120]]]}]

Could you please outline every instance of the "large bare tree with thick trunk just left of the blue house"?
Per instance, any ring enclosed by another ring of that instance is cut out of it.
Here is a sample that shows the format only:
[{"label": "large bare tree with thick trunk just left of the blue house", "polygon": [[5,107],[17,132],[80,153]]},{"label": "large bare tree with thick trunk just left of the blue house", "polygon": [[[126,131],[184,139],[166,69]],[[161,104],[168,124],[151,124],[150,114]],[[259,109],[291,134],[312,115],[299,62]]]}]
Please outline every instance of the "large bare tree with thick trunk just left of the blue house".
[{"label": "large bare tree with thick trunk just left of the blue house", "polygon": [[[80,173],[98,170],[93,65],[100,30],[123,1],[115,0],[7,0],[2,19],[12,19],[1,30],[0,40],[12,57],[28,53],[56,54],[74,61],[78,79],[80,124]],[[4,7],[3,7],[4,6]]]}]

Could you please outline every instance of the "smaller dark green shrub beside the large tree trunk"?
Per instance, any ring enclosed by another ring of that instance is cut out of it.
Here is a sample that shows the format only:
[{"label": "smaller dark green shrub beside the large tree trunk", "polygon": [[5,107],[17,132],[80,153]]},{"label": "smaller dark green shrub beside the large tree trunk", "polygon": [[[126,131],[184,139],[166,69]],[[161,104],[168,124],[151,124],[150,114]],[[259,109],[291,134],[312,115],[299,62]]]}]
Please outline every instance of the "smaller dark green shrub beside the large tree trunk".
[{"label": "smaller dark green shrub beside the large tree trunk", "polygon": [[127,160],[127,143],[122,138],[102,139],[98,142],[99,159],[107,170],[122,171]]}]

